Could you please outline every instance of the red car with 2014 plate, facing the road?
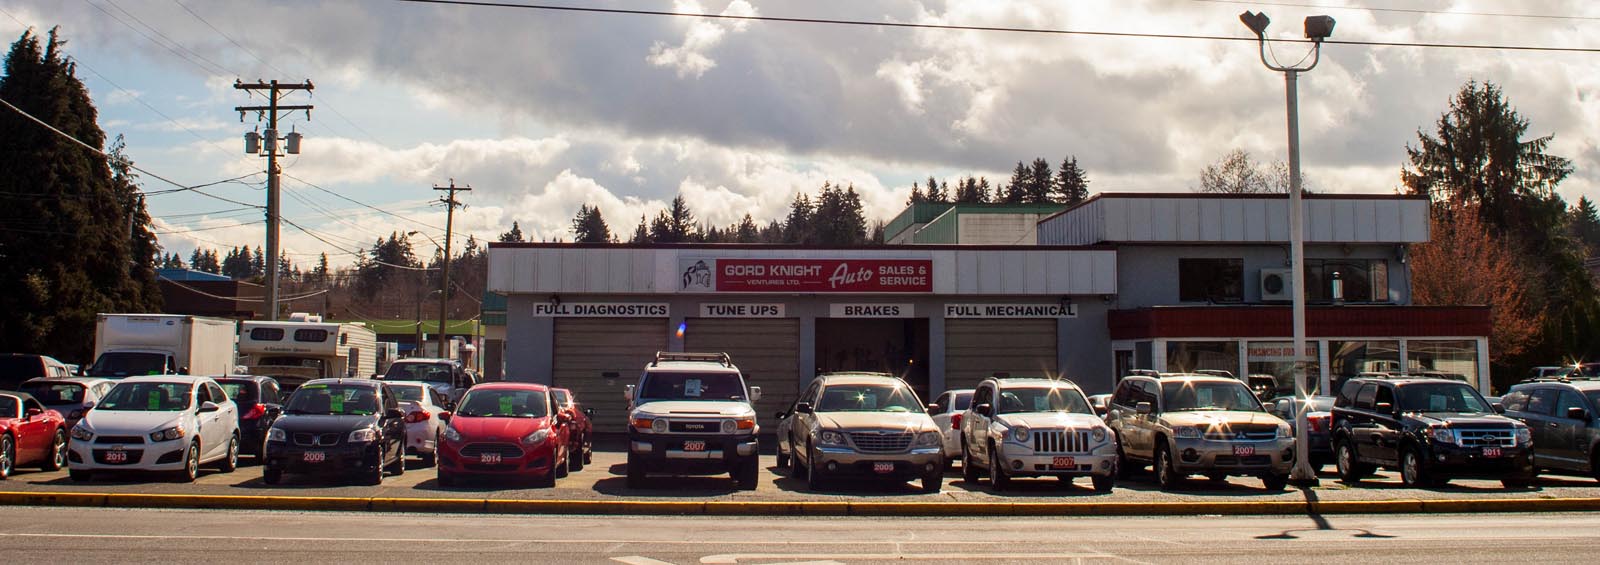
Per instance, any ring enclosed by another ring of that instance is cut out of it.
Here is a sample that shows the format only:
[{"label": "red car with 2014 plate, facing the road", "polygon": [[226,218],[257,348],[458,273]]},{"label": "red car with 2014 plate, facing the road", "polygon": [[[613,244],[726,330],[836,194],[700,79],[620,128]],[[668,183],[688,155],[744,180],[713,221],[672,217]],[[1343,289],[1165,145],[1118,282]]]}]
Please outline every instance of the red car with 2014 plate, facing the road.
[{"label": "red car with 2014 plate, facing the road", "polygon": [[542,384],[480,384],[440,418],[450,423],[438,445],[442,487],[464,475],[533,479],[538,487],[566,477],[571,418]]}]

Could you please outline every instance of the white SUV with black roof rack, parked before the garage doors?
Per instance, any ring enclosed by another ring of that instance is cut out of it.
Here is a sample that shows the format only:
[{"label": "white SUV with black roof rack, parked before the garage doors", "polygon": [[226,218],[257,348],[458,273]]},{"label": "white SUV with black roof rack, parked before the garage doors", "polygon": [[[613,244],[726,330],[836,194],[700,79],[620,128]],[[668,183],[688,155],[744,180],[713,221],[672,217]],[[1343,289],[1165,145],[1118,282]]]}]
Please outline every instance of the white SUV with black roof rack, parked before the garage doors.
[{"label": "white SUV with black roof rack, parked before the garage doors", "polygon": [[643,487],[650,472],[726,472],[739,488],[755,488],[760,426],[750,403],[762,387],[746,387],[728,354],[658,352],[624,395],[627,487]]}]

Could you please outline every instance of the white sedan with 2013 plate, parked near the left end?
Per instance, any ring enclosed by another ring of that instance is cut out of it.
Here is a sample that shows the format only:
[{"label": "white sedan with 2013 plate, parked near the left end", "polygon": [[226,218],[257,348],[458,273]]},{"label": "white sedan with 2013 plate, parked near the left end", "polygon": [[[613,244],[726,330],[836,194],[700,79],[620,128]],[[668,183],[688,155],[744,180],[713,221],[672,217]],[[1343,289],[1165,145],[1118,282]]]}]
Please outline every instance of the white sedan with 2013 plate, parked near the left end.
[{"label": "white sedan with 2013 plate, parked near the left end", "polygon": [[208,376],[130,376],[72,427],[72,480],[160,471],[192,482],[200,466],[238,467],[238,407]]}]

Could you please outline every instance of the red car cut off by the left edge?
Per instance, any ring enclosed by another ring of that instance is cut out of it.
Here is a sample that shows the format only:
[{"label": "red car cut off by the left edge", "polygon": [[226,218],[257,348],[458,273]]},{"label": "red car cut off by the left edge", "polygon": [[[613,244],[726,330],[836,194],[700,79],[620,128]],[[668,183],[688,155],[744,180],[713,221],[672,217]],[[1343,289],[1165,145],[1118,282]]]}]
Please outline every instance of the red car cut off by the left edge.
[{"label": "red car cut off by the left edge", "polygon": [[67,464],[67,424],[27,392],[0,391],[0,480],[16,467],[58,471]]}]

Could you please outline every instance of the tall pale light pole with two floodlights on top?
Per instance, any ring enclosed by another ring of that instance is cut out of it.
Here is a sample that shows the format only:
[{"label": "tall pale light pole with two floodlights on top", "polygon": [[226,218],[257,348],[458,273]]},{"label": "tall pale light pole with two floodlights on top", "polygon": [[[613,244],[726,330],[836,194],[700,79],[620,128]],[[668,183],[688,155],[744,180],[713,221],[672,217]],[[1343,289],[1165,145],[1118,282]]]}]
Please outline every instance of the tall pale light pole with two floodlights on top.
[{"label": "tall pale light pole with two floodlights on top", "polygon": [[1294,471],[1290,480],[1299,485],[1315,485],[1317,472],[1310,467],[1310,437],[1307,435],[1306,413],[1310,408],[1310,394],[1306,386],[1306,208],[1302,205],[1301,170],[1299,170],[1299,74],[1309,72],[1322,61],[1322,42],[1333,35],[1333,18],[1306,18],[1306,38],[1312,40],[1312,59],[1304,67],[1277,66],[1267,61],[1267,24],[1272,21],[1264,13],[1246,11],[1238,14],[1251,32],[1256,32],[1256,43],[1261,51],[1261,64],[1283,74],[1283,98],[1288,106],[1290,123],[1290,262],[1293,288],[1294,319]]}]

